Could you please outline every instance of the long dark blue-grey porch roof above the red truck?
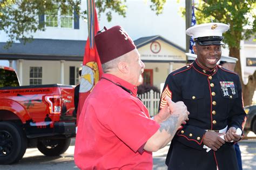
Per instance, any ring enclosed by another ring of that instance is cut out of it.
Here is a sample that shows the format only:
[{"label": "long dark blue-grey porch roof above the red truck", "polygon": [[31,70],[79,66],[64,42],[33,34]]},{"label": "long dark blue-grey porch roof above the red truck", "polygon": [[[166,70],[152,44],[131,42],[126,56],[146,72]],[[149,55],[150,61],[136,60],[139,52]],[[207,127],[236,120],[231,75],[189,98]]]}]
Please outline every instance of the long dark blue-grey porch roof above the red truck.
[{"label": "long dark blue-grey porch roof above the red truck", "polygon": [[85,40],[33,39],[4,49],[5,43],[0,43],[0,59],[83,60],[85,44]]}]

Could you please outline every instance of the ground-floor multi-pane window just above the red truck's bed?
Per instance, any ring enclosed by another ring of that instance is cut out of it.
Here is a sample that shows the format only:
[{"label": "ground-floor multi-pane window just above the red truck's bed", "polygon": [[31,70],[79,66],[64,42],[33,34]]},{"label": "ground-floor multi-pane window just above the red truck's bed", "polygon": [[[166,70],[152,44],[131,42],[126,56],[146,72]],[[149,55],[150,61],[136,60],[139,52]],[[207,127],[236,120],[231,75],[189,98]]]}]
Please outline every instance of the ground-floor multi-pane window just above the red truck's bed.
[{"label": "ground-floor multi-pane window just above the red truck's bed", "polygon": [[29,68],[29,84],[40,85],[42,84],[42,67],[30,67]]}]

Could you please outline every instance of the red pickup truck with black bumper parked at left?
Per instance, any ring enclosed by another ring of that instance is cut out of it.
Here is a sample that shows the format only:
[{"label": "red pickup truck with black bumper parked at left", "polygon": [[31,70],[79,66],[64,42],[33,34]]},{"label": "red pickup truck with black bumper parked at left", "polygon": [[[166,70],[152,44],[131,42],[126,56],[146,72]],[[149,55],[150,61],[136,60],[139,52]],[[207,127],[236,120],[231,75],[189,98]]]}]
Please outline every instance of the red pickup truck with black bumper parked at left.
[{"label": "red pickup truck with black bumper parked at left", "polygon": [[0,164],[22,159],[26,148],[60,155],[76,135],[71,85],[19,86],[16,71],[0,66]]}]

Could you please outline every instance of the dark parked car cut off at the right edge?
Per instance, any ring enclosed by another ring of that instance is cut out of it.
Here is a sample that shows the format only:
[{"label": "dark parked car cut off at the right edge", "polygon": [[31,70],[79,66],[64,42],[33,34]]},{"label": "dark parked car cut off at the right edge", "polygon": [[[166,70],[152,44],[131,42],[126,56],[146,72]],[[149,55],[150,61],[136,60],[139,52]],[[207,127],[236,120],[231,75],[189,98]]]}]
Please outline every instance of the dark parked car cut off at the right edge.
[{"label": "dark parked car cut off at the right edge", "polygon": [[256,134],[256,105],[245,106],[247,113],[247,120],[244,128],[244,134],[247,135],[249,131]]}]

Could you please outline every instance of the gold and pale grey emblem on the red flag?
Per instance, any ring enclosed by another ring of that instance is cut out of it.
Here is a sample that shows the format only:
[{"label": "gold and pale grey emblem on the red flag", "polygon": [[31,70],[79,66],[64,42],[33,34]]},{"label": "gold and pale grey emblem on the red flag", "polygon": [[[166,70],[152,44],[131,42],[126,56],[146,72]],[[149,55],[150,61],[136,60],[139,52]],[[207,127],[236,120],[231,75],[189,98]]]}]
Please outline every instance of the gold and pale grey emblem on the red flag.
[{"label": "gold and pale grey emblem on the red flag", "polygon": [[83,65],[79,92],[88,92],[99,81],[99,69],[96,62],[88,62]]}]

